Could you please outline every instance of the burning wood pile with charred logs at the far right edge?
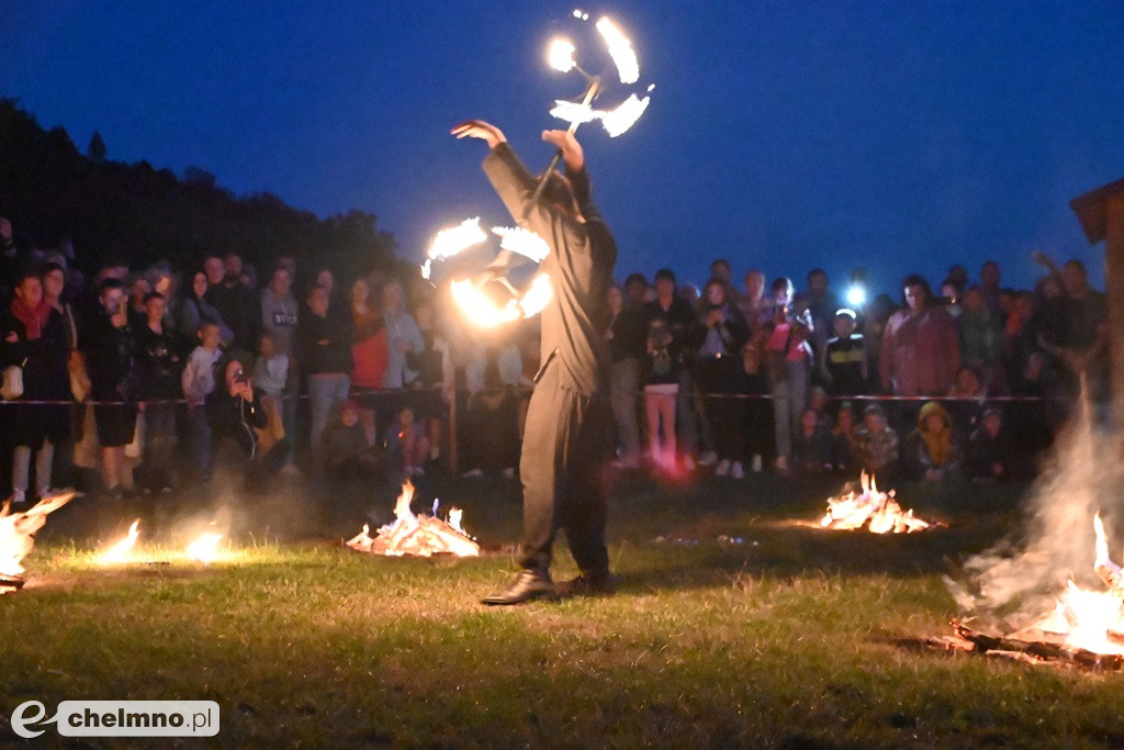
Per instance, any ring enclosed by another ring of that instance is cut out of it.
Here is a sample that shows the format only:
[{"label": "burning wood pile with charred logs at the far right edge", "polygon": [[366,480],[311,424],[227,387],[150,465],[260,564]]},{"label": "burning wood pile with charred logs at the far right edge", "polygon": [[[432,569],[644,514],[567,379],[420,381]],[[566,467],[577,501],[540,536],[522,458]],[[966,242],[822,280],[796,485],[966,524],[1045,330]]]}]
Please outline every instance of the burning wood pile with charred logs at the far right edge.
[{"label": "burning wood pile with charred logs at the far right edge", "polygon": [[955,638],[931,639],[930,645],[1032,663],[1124,670],[1124,569],[1108,557],[1099,514],[1093,525],[1097,534],[1093,569],[1107,590],[1086,589],[1070,580],[1052,612],[1009,635],[990,635],[953,621]]}]

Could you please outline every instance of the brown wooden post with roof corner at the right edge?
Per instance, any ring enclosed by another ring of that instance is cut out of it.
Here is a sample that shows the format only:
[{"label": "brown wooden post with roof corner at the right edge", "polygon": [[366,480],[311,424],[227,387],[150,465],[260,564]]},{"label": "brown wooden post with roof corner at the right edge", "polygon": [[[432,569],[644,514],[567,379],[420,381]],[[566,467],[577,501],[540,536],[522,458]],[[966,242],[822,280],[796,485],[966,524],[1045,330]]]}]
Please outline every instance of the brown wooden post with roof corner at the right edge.
[{"label": "brown wooden post with roof corner at the right edge", "polygon": [[1113,422],[1121,430],[1124,428],[1124,180],[1079,196],[1069,205],[1089,243],[1105,241]]}]

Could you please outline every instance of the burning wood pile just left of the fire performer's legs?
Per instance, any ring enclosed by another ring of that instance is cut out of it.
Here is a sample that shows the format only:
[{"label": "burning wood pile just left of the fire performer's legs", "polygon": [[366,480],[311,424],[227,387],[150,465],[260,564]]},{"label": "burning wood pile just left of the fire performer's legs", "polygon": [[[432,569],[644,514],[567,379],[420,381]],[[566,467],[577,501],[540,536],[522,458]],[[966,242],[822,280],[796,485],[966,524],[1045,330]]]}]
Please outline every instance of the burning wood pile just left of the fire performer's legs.
[{"label": "burning wood pile just left of the fire performer's legs", "polygon": [[407,481],[395,505],[395,522],[380,528],[373,537],[369,536],[371,527],[364,524],[363,531],[348,541],[347,546],[360,552],[390,557],[455,554],[459,558],[472,558],[480,554],[480,545],[461,526],[462,512],[459,508],[450,510],[447,522],[437,517],[436,501],[433,505],[434,515],[416,516],[410,510],[413,499],[414,485]]}]

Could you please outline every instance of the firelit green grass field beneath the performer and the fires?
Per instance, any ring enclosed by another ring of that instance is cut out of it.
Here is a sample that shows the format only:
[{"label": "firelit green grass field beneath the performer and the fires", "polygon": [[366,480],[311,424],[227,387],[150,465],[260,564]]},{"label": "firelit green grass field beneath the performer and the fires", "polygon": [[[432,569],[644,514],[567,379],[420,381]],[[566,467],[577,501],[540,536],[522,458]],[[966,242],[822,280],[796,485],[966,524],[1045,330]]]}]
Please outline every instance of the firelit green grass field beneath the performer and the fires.
[{"label": "firelit green grass field beneath the performer and the fires", "polygon": [[[0,597],[0,721],[29,699],[182,698],[218,702],[223,746],[1124,744],[1124,677],[917,645],[957,614],[941,575],[1017,524],[1019,488],[899,488],[950,523],[900,537],[812,527],[828,489],[622,484],[617,596],[510,609],[478,604],[513,570],[510,484],[419,486],[416,510],[465,508],[490,550],[471,560],[342,548],[389,513],[384,488],[243,508],[208,567],[106,568],[89,550],[132,517],[79,499]],[[174,557],[191,501],[146,512],[152,557]]]}]

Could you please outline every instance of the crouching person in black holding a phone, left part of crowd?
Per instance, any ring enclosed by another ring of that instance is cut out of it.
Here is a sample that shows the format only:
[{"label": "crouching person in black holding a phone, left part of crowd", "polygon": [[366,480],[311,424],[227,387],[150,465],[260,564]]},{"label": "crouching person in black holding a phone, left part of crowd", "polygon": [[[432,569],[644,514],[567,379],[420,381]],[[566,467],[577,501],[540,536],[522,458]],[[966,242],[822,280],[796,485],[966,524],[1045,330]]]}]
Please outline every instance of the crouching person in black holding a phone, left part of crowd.
[{"label": "crouching person in black holding a phone, left part of crowd", "polygon": [[269,427],[261,394],[237,359],[219,363],[221,385],[207,396],[207,424],[219,460],[245,478],[247,491],[261,493],[285,462],[289,449],[281,440],[265,451],[261,432]]}]

